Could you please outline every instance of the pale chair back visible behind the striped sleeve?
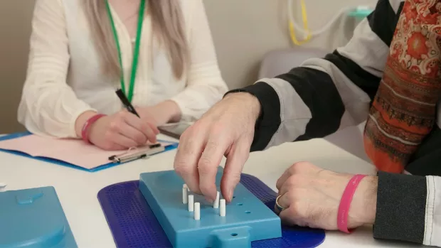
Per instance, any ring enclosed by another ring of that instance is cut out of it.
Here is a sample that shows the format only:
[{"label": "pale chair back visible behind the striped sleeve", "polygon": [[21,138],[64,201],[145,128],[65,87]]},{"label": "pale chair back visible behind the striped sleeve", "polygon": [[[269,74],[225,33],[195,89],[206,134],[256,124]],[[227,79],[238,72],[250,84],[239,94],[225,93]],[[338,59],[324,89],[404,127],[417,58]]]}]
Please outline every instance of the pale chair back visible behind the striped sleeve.
[{"label": "pale chair back visible behind the striped sleeve", "polygon": [[[272,51],[267,53],[262,60],[258,79],[281,75],[301,65],[304,60],[323,58],[324,55],[326,55],[326,51],[318,48],[296,47]],[[363,160],[369,161],[363,148],[363,124],[343,129],[336,134],[326,136],[324,139]]]}]

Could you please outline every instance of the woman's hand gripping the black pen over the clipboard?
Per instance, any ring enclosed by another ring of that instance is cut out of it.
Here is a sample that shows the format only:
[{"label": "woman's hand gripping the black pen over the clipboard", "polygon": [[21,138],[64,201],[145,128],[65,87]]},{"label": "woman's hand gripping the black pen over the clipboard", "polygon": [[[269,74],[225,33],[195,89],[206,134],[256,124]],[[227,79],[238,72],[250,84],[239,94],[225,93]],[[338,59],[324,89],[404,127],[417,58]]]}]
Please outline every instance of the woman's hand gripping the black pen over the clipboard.
[{"label": "woman's hand gripping the black pen over the clipboard", "polygon": [[97,120],[89,130],[92,144],[105,150],[124,150],[156,143],[158,129],[154,124],[139,119],[127,111],[118,112]]}]

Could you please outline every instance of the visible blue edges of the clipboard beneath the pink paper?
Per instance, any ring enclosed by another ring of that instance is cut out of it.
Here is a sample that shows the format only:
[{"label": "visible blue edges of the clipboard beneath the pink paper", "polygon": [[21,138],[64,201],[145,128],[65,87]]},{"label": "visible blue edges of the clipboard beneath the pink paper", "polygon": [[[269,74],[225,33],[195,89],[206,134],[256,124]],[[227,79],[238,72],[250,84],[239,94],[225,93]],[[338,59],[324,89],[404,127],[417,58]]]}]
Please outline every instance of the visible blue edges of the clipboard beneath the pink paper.
[{"label": "visible blue edges of the clipboard beneath the pink paper", "polygon": [[[28,131],[25,131],[25,132],[22,132],[22,133],[8,134],[8,135],[5,135],[5,136],[0,136],[0,141],[4,141],[4,140],[8,140],[8,139],[17,139],[17,138],[20,138],[20,137],[23,137],[23,136],[27,136],[27,135],[30,135],[30,134],[31,133],[28,132]],[[161,141],[161,140],[159,140],[159,141]],[[161,141],[161,142],[169,143],[168,146],[164,147],[164,151],[162,151],[161,153],[163,153],[165,151],[171,151],[171,150],[176,149],[178,147],[178,143],[177,142],[170,142],[170,141]],[[33,159],[36,159],[36,160],[39,160],[39,161],[45,161],[45,162],[48,162],[48,163],[55,163],[55,164],[57,164],[59,166],[67,166],[67,167],[70,167],[70,168],[75,168],[75,169],[78,169],[78,170],[81,170],[81,171],[88,171],[88,172],[101,171],[101,170],[104,170],[106,168],[110,168],[110,167],[113,167],[113,166],[119,166],[119,165],[123,164],[123,163],[113,163],[113,162],[110,162],[110,163],[106,163],[106,164],[104,164],[102,166],[98,166],[98,167],[95,167],[95,168],[92,168],[92,169],[87,169],[87,168],[83,168],[83,167],[80,167],[80,166],[75,166],[72,163],[68,163],[68,162],[65,162],[65,161],[60,161],[58,159],[46,158],[46,157],[34,157],[34,156],[31,156],[31,155],[29,155],[27,153],[23,153],[21,151],[11,151],[11,150],[6,150],[6,149],[0,149],[0,151],[6,152],[6,153],[15,154],[15,155],[18,155],[18,156],[23,156],[23,157],[26,157],[26,158],[33,158]]]}]

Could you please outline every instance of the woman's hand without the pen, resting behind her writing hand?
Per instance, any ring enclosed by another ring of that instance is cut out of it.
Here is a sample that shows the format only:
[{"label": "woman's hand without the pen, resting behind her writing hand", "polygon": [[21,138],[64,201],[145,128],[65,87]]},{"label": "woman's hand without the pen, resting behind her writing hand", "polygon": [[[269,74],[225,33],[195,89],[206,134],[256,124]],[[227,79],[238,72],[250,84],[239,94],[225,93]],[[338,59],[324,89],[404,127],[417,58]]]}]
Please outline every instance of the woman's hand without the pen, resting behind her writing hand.
[{"label": "woman's hand without the pen, resting behind her writing hand", "polygon": [[144,122],[149,122],[154,124],[154,126],[161,126],[169,122],[179,122],[181,119],[181,110],[173,101],[165,101],[152,107],[138,107],[136,109],[139,117]]}]

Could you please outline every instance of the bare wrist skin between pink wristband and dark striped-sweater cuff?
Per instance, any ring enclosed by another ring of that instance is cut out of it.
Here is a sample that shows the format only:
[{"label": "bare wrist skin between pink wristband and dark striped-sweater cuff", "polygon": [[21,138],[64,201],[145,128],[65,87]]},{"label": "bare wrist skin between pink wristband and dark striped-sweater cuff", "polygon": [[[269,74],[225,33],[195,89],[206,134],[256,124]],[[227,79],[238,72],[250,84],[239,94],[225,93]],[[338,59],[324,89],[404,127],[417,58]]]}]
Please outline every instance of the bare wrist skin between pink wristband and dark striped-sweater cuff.
[{"label": "bare wrist skin between pink wristband and dark striped-sweater cuff", "polygon": [[348,226],[373,225],[376,216],[378,177],[361,180],[349,209]]}]

